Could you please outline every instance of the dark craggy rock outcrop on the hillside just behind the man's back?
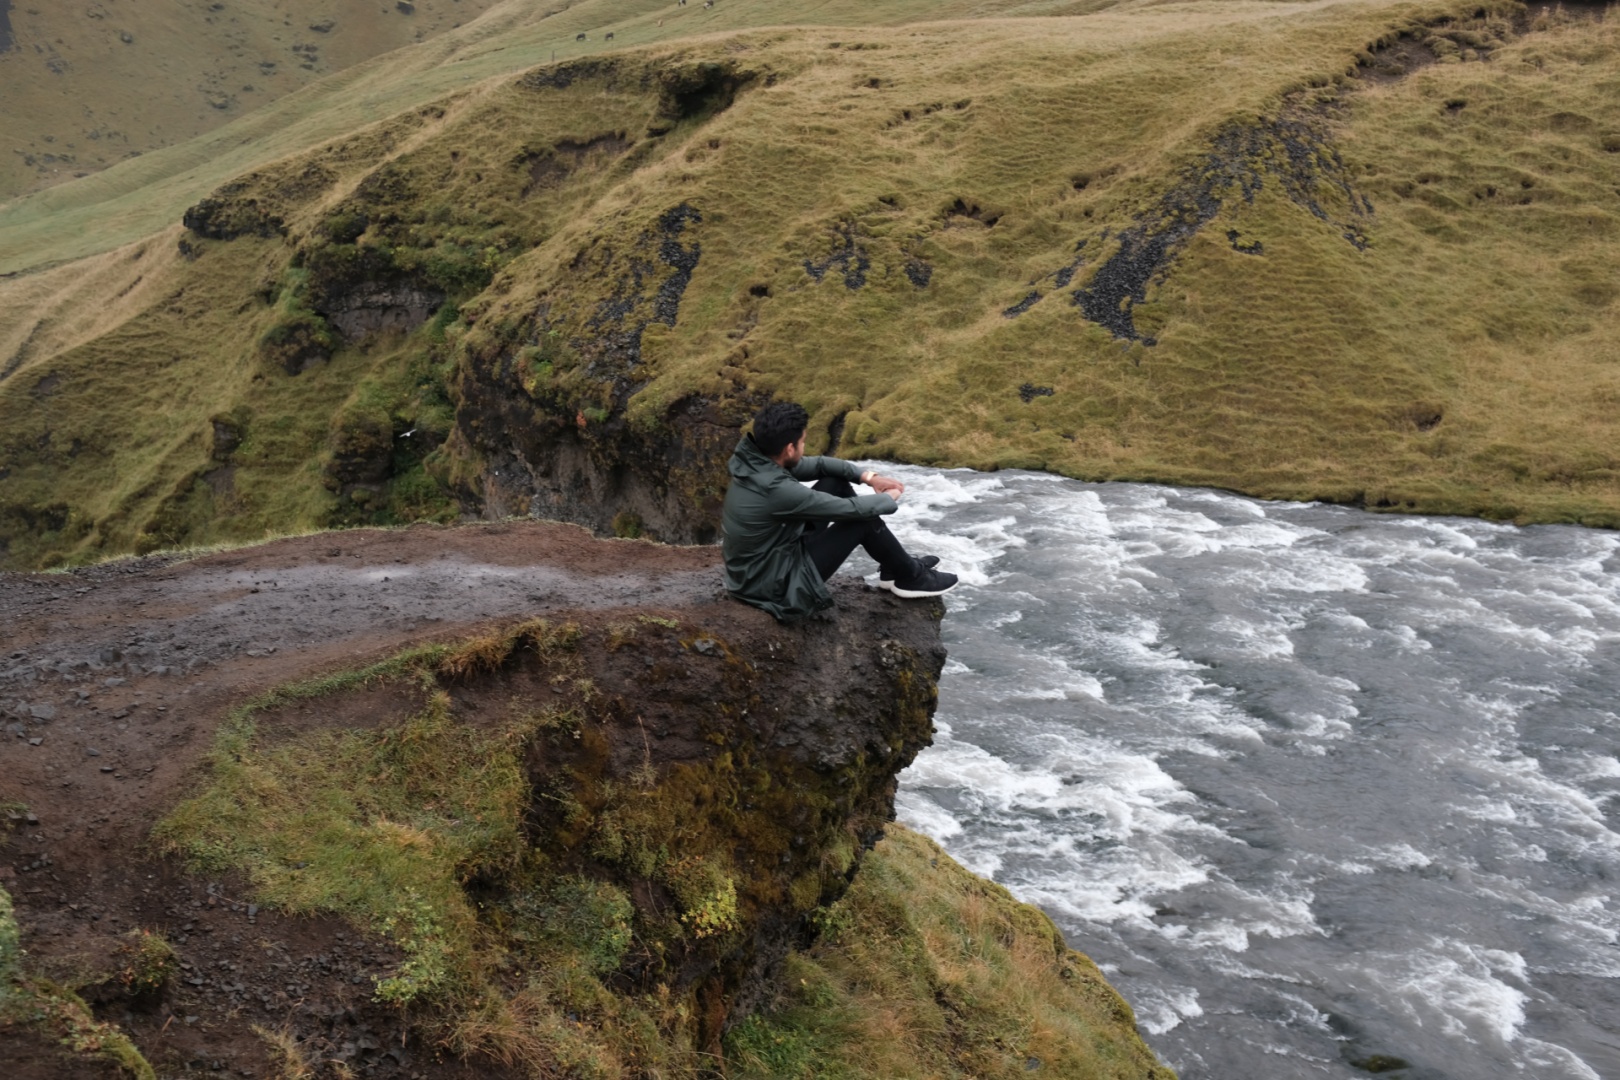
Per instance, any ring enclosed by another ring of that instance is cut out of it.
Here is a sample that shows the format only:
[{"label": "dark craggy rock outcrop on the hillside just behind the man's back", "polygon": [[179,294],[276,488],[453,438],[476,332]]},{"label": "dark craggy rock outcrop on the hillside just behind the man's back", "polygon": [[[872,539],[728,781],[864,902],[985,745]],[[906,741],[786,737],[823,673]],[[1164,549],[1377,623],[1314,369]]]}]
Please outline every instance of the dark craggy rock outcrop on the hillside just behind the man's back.
[{"label": "dark craggy rock outcrop on the hillside just behind the man's back", "polygon": [[[724,463],[758,403],[690,395],[651,423],[625,416],[646,381],[642,335],[676,325],[701,261],[692,235],[701,220],[682,202],[627,248],[577,261],[580,288],[595,285],[596,295],[583,313],[548,308],[523,342],[463,358],[450,450],[483,463],[478,487],[460,492],[465,504],[489,518],[557,518],[671,542],[716,539]],[[535,364],[565,368],[567,379],[536,377]]]}]

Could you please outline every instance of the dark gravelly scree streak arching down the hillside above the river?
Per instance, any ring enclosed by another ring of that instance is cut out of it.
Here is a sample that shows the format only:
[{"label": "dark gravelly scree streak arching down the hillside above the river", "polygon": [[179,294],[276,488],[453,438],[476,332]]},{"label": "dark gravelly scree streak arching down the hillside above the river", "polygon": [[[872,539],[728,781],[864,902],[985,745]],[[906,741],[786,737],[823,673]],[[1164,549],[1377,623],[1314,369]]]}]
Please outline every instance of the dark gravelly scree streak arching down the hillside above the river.
[{"label": "dark gravelly scree streak arching down the hillside above the river", "polygon": [[[1320,120],[1285,115],[1217,136],[1204,160],[1189,168],[1157,207],[1116,233],[1115,253],[1074,290],[1076,306],[1116,338],[1152,345],[1137,334],[1132,306],[1147,300],[1150,285],[1163,282],[1181,248],[1215,220],[1228,199],[1241,196],[1252,202],[1267,178],[1278,183],[1294,206],[1333,225],[1356,248],[1366,248],[1358,222],[1372,215],[1372,202],[1354,189]],[[1324,201],[1345,220],[1335,219]]]}]

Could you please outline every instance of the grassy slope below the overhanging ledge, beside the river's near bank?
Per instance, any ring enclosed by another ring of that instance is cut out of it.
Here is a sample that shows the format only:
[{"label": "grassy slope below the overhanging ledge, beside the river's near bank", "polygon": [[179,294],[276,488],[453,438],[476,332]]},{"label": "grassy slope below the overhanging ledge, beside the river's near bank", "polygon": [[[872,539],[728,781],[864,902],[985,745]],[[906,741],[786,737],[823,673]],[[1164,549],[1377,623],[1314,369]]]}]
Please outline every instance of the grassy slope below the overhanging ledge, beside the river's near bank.
[{"label": "grassy slope below the overhanging ledge, beside the river's near bank", "polygon": [[909,829],[889,827],[823,926],[781,999],[732,1030],[729,1075],[1173,1075],[1105,1035],[1134,1025],[1131,1007],[1045,915]]}]

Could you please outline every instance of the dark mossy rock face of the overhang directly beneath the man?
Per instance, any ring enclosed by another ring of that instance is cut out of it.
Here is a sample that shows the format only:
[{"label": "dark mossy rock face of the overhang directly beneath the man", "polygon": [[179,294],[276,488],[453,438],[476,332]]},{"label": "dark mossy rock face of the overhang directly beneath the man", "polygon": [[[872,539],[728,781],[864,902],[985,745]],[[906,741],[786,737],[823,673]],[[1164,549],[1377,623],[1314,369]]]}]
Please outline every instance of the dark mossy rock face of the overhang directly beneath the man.
[{"label": "dark mossy rock face of the overhang directly beneath the man", "polygon": [[[703,1048],[773,991],[782,957],[812,938],[810,913],[844,894],[893,819],[899,771],[933,738],[943,606],[860,585],[838,599],[831,619],[791,628],[732,601],[679,627],[586,628],[604,643],[583,654],[603,695],[578,733],[551,732],[526,753],[544,793],[536,847],[633,899],[663,947],[622,975],[646,993],[688,991]],[[509,696],[525,664],[486,693]],[[573,805],[595,808],[588,824]],[[672,861],[648,874],[637,844],[667,844]],[[735,915],[703,933],[703,905],[731,887]],[[658,912],[682,912],[682,926]]]}]

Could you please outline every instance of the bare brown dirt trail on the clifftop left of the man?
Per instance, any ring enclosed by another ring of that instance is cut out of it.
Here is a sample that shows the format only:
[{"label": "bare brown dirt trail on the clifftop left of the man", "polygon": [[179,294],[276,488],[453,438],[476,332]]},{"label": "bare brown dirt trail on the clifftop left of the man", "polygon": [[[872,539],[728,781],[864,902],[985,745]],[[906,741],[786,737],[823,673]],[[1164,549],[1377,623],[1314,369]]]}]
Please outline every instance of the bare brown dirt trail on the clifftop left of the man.
[{"label": "bare brown dirt trail on the clifftop left of the man", "polygon": [[[390,949],[335,920],[261,913],[238,882],[151,858],[152,824],[194,777],[217,721],[262,690],[480,623],[708,606],[724,597],[718,563],[714,547],[512,523],[0,575],[0,803],[26,806],[8,811],[10,837],[0,832],[0,886],[16,899],[24,947],[66,970],[104,959],[131,928],[164,928],[188,965],[180,984],[151,1014],[118,1004],[105,1018],[178,1075],[271,1075],[262,1043],[219,1025],[233,1006],[272,999],[300,1028],[324,1025],[329,1059],[415,1075],[429,1051],[369,1002]],[[19,1070],[13,1080],[68,1075],[53,1048],[16,1033],[0,1031],[0,1059]],[[439,1062],[431,1075],[460,1072]]]}]

